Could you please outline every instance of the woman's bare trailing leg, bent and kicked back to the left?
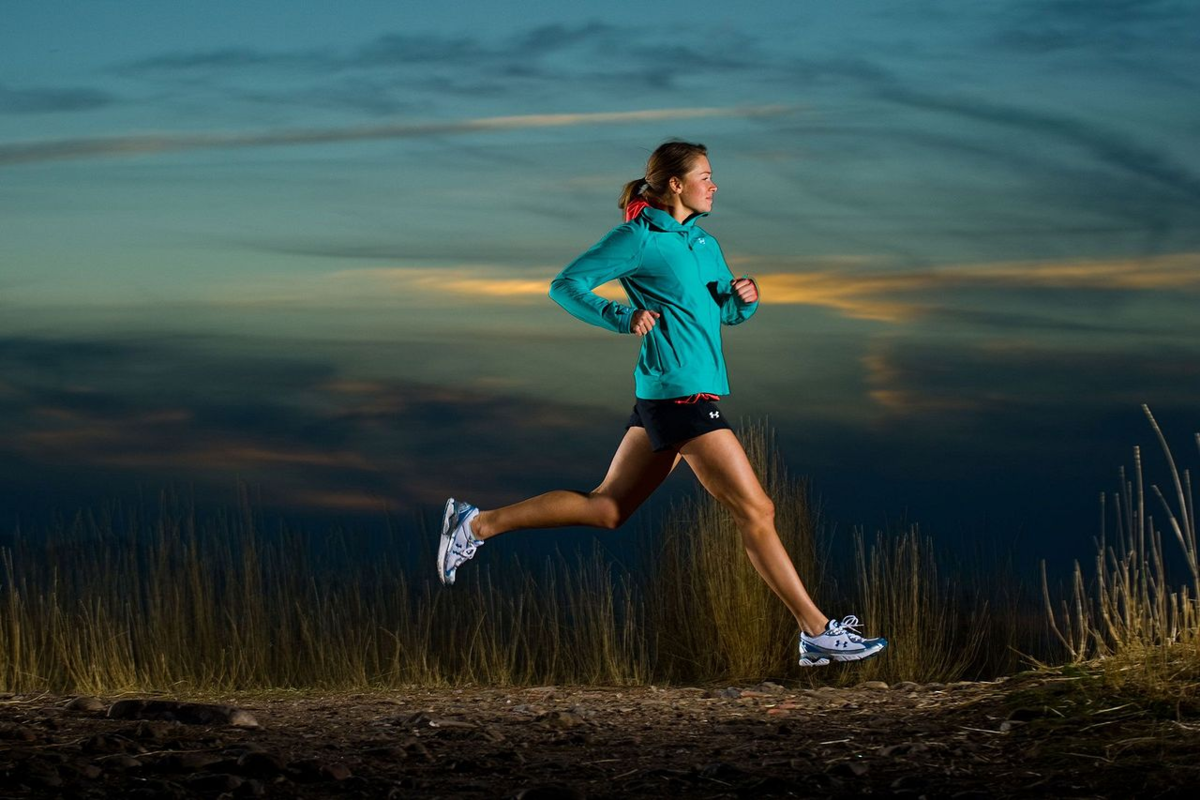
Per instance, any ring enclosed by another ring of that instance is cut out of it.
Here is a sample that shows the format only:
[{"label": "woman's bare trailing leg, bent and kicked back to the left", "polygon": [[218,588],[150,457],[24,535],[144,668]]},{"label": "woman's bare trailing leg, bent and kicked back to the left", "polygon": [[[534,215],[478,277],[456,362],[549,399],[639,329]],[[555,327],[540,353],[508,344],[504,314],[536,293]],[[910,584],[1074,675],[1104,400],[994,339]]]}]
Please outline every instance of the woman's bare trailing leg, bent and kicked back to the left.
[{"label": "woman's bare trailing leg, bent and kicked back to the left", "polygon": [[480,511],[472,522],[476,539],[528,528],[590,525],[617,528],[659,488],[679,463],[674,451],[654,452],[646,428],[625,432],[604,482],[590,492],[556,489],[514,505]]}]

